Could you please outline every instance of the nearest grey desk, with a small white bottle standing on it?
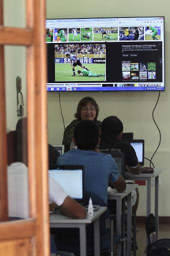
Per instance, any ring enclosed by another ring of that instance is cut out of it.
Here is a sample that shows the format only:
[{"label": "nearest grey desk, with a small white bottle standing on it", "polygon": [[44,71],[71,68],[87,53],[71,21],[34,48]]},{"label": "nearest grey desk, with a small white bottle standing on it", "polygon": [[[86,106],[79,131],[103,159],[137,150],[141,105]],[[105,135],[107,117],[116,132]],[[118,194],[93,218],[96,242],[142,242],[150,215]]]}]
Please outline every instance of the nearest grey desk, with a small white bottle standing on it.
[{"label": "nearest grey desk, with a small white bottle standing on it", "polygon": [[100,255],[100,223],[99,217],[107,210],[107,207],[100,207],[94,211],[93,216],[84,219],[74,219],[62,214],[50,216],[50,227],[78,227],[80,229],[80,255],[86,256],[86,225],[94,222],[94,255]]}]

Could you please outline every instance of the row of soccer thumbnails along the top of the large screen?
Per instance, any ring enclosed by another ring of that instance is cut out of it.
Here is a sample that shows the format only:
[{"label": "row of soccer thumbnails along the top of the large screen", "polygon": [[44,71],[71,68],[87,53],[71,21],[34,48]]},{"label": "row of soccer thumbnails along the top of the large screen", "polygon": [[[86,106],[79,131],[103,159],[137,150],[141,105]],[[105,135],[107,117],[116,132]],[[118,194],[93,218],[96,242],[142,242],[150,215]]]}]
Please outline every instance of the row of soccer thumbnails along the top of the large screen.
[{"label": "row of soccer thumbnails along the top of the large screen", "polygon": [[161,40],[161,26],[46,28],[46,42],[122,40]]}]

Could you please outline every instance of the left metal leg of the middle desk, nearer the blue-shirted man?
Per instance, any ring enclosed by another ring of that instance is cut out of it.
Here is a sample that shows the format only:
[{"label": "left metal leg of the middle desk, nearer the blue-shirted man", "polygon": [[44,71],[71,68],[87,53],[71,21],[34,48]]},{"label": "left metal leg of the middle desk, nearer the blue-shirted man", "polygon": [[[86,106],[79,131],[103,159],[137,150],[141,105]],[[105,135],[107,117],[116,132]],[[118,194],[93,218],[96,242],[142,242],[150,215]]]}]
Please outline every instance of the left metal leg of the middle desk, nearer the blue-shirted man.
[{"label": "left metal leg of the middle desk, nearer the blue-shirted man", "polygon": [[[121,230],[121,218],[122,218],[122,199],[119,198],[116,200],[116,233],[122,236]],[[121,244],[117,246],[117,254],[121,255]]]}]

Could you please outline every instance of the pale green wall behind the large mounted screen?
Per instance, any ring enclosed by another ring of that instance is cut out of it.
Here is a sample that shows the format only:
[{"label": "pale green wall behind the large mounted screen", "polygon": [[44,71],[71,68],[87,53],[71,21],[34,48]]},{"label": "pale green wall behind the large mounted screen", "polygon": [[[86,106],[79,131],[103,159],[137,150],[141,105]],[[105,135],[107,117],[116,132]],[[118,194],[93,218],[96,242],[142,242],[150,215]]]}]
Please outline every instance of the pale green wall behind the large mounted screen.
[{"label": "pale green wall behind the large mounted screen", "polygon": [[[161,129],[162,142],[153,161],[156,167],[164,168],[161,177],[159,212],[170,215],[169,204],[169,158],[170,158],[170,1],[155,0],[47,0],[47,18],[111,17],[111,16],[165,16],[166,92],[162,92],[155,119]],[[145,139],[146,157],[151,157],[159,142],[159,132],[152,119],[152,111],[158,92],[62,92],[61,104],[65,124],[74,118],[79,100],[90,95],[100,106],[99,120],[108,115],[117,115],[124,123],[124,131],[133,131],[135,138]],[[60,113],[58,93],[48,92],[48,137],[50,143],[61,143],[63,122]],[[145,163],[147,165],[148,162]],[[152,201],[154,200],[154,196]],[[153,205],[152,205],[152,209]],[[146,213],[146,187],[140,186],[138,215]]]}]

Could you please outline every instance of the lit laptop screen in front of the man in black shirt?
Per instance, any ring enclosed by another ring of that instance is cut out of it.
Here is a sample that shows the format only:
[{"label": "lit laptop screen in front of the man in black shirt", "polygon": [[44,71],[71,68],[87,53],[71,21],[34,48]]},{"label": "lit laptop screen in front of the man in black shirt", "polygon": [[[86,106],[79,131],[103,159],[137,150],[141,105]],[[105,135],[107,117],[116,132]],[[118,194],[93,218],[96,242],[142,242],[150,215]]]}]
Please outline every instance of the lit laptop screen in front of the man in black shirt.
[{"label": "lit laptop screen in front of the man in black shirt", "polygon": [[133,139],[129,140],[130,144],[135,149],[135,152],[138,157],[139,164],[144,166],[144,139]]}]

